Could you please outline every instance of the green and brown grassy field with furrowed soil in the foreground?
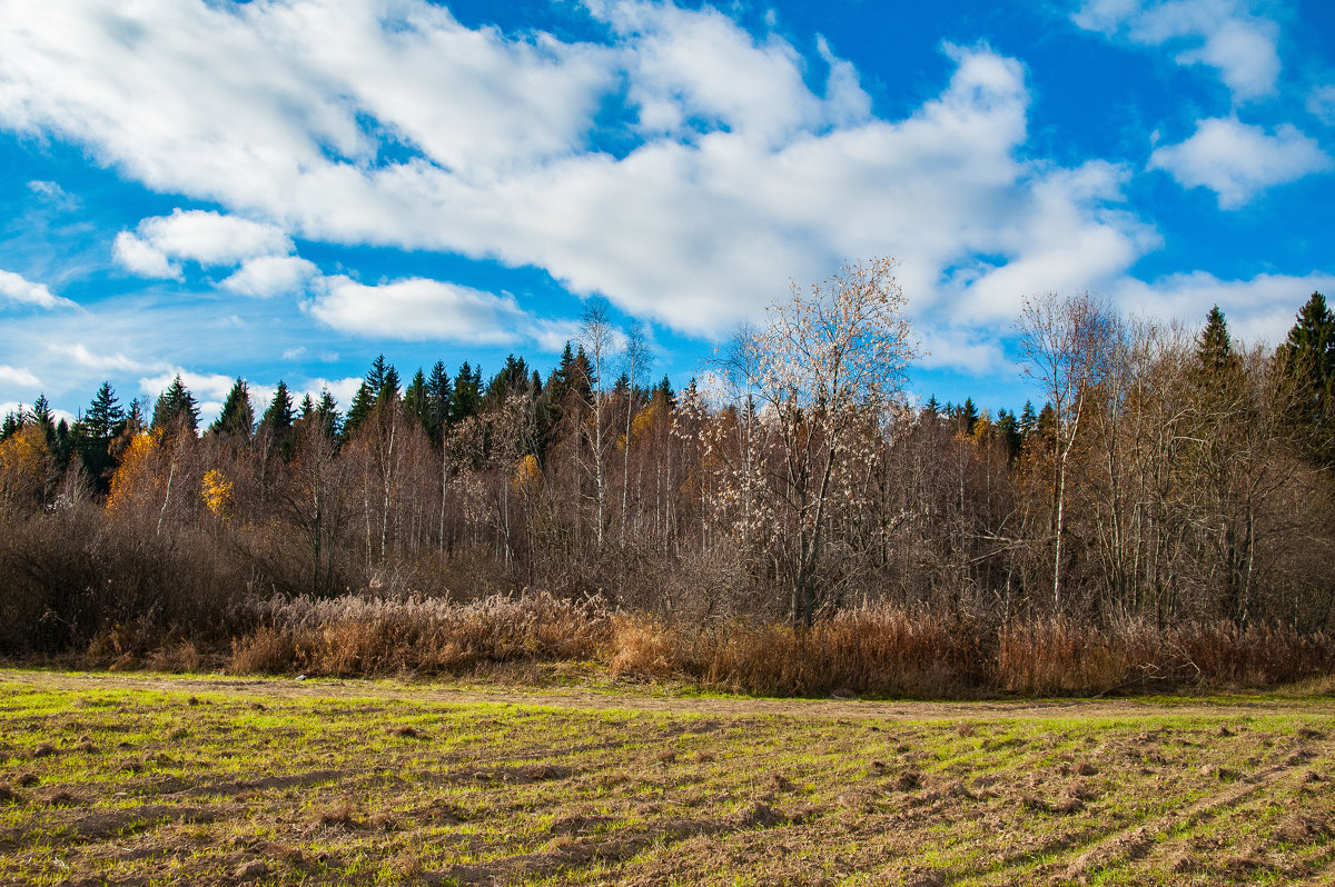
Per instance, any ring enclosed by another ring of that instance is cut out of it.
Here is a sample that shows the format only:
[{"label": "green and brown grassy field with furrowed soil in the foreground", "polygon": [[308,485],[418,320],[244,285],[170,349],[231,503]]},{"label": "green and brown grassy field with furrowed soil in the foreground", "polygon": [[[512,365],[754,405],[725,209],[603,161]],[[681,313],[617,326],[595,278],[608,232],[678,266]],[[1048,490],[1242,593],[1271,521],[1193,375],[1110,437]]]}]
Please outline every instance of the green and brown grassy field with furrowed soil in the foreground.
[{"label": "green and brown grassy field with furrowed soil in the foreground", "polygon": [[0,671],[0,882],[1335,879],[1335,703]]}]

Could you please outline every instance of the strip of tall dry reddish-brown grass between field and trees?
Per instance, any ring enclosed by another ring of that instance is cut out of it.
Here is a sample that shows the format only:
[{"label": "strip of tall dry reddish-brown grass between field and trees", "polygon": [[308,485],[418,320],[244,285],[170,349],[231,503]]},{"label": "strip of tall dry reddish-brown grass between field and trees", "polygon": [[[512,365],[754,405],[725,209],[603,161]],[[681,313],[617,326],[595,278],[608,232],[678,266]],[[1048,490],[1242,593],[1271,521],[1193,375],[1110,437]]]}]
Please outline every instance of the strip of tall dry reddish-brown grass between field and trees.
[{"label": "strip of tall dry reddish-brown grass between field and trees", "polygon": [[[809,630],[705,626],[547,594],[441,599],[275,599],[232,643],[236,674],[469,674],[497,663],[598,662],[610,674],[774,696],[960,698],[1260,688],[1335,672],[1322,635],[1230,624],[1107,628],[1071,619],[1000,627],[930,610],[852,610]],[[179,644],[151,662],[199,660]]]}]

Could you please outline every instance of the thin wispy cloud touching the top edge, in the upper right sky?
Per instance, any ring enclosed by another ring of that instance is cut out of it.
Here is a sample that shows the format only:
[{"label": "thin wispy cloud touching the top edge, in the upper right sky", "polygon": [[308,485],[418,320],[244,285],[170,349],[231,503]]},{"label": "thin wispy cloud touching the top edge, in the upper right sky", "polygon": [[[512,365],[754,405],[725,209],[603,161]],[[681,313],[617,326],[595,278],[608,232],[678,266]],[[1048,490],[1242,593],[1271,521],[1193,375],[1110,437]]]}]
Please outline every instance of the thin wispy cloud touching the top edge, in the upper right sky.
[{"label": "thin wispy cloud touching the top edge, in the upper right sky", "polygon": [[1235,99],[1275,91],[1279,27],[1243,0],[1085,0],[1076,25],[1148,47],[1184,47],[1175,61],[1219,71]]}]

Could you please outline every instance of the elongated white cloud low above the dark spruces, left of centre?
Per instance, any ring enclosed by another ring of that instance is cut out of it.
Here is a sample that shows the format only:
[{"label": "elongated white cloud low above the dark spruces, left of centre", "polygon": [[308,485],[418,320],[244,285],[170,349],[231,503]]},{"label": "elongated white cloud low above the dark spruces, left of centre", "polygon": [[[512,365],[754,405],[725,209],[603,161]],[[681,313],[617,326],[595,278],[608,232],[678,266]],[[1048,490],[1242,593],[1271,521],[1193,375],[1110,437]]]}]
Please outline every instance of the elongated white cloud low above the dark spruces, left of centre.
[{"label": "elongated white cloud low above the dark spruces, left of centre", "polygon": [[359,335],[507,344],[537,327],[513,296],[413,277],[379,285],[326,277],[310,305],[322,323]]}]

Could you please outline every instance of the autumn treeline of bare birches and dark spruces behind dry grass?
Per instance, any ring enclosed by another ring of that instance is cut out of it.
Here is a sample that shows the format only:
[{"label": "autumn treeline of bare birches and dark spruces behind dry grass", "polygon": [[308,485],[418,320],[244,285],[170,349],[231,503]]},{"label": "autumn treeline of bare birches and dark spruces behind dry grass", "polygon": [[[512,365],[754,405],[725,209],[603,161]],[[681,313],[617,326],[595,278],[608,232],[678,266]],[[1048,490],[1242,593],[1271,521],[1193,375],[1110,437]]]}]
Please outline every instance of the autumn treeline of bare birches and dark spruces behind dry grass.
[{"label": "autumn treeline of bare birches and dark spruces behind dry grass", "polygon": [[905,401],[890,271],[776,307],[681,391],[595,308],[546,376],[510,357],[405,384],[379,357],[346,412],[283,384],[255,404],[243,379],[204,429],[180,379],[151,415],[103,384],[68,427],[39,399],[0,441],[0,646],[226,644],[275,598],[523,588],[697,640],[889,607],[967,623],[993,656],[1053,620],[1331,628],[1320,293],[1275,351],[1242,348],[1218,308],[1189,331],[1033,299],[1023,356],[1047,403],[991,415]]}]

